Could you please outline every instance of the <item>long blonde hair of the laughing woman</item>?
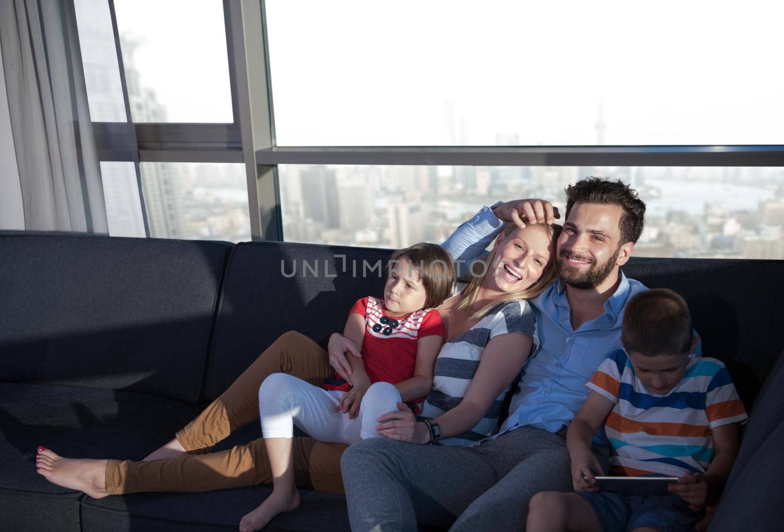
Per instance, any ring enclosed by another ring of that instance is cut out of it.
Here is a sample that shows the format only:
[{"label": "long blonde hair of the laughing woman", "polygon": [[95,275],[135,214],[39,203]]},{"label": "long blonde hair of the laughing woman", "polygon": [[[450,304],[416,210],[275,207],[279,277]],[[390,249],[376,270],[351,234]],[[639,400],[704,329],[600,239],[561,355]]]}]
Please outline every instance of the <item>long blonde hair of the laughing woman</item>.
[{"label": "long blonde hair of the laughing woman", "polygon": [[[558,276],[558,262],[556,260],[556,243],[558,237],[561,235],[562,227],[557,224],[552,225],[539,225],[535,224],[528,227],[539,227],[542,230],[546,230],[548,236],[550,236],[550,243],[553,248],[553,252],[550,253],[550,260],[547,261],[547,264],[542,270],[542,275],[539,277],[538,280],[525,290],[517,291],[517,292],[510,292],[509,294],[505,294],[498,299],[488,303],[487,305],[483,306],[481,309],[478,309],[476,312],[471,314],[471,319],[473,320],[481,320],[483,317],[487,316],[488,313],[494,309],[496,306],[499,306],[501,303],[505,303],[507,301],[512,301],[514,299],[533,299],[537,295],[541,294],[545,291],[545,288],[550,286],[555,278]],[[504,239],[509,237],[511,233],[514,233],[515,230],[519,229],[514,223],[509,222],[503,226],[503,234]],[[474,306],[474,302],[476,302],[477,294],[479,293],[479,288],[481,288],[482,282],[485,280],[485,277],[488,275],[495,275],[495,271],[490,269],[493,260],[495,259],[495,249],[492,250],[484,259],[486,264],[485,268],[485,275],[475,276],[473,275],[473,271],[471,272],[471,280],[469,281],[466,288],[463,288],[463,291],[460,292],[460,296],[462,300],[459,302],[457,306],[458,309],[463,310],[464,312],[470,312],[471,307]],[[473,266],[473,265],[472,265]],[[473,268],[471,268],[473,270]]]}]

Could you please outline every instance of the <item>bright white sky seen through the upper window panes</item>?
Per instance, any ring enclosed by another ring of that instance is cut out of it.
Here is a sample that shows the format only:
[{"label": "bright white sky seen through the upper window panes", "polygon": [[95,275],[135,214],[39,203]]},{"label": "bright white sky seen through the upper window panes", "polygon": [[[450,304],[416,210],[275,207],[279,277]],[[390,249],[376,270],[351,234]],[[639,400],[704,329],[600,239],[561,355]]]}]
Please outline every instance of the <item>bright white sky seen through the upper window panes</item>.
[{"label": "bright white sky seen through the upper window panes", "polygon": [[[220,0],[115,0],[171,121],[230,121]],[[267,0],[280,145],[784,143],[784,2]]]}]

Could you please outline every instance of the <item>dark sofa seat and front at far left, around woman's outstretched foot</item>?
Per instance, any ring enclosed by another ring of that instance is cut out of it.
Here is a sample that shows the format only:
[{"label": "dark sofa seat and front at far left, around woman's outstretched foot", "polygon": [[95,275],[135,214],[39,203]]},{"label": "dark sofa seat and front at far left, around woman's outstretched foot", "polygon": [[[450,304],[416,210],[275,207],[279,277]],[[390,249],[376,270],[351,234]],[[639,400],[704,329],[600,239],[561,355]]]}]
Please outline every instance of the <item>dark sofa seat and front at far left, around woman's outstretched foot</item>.
[{"label": "dark sofa seat and front at far left, around woman's outstretched foot", "polygon": [[65,457],[143,458],[198,411],[194,404],[147,394],[0,382],[2,527],[80,530],[83,494],[35,472],[39,445]]}]

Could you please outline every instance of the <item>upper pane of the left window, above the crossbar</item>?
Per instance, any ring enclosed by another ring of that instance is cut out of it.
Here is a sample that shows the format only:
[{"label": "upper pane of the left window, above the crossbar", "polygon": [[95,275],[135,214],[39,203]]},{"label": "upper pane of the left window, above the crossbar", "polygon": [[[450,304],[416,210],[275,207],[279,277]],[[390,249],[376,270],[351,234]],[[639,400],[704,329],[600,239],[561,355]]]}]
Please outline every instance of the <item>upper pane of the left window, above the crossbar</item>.
[{"label": "upper pane of the left window, above the crossbar", "polygon": [[114,0],[135,122],[232,122],[220,0]]}]

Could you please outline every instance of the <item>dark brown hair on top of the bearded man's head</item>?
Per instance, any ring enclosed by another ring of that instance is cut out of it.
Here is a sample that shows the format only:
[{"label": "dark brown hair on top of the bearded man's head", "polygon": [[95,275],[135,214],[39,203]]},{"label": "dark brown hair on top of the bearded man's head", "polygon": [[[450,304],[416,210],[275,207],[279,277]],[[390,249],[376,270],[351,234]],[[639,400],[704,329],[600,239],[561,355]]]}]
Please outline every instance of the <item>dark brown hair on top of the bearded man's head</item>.
[{"label": "dark brown hair on top of the bearded man's head", "polygon": [[575,203],[599,203],[618,205],[623,209],[621,215],[621,244],[637,243],[642,233],[645,204],[637,197],[637,190],[618,181],[610,181],[601,177],[586,177],[574,185],[566,187],[566,219]]}]

